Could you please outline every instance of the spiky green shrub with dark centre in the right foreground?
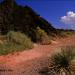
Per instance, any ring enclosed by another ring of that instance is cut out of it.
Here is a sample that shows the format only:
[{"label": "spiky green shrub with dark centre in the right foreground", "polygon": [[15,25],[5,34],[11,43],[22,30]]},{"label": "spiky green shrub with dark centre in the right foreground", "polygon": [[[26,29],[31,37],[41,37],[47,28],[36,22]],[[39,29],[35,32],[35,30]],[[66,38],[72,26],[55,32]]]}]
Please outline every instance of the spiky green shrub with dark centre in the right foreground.
[{"label": "spiky green shrub with dark centre in the right foreground", "polygon": [[73,63],[74,60],[75,47],[65,46],[61,48],[61,52],[58,52],[51,57],[51,66],[53,66],[54,71],[59,75],[62,75],[62,73],[65,75],[72,75],[71,73],[74,73],[72,70],[72,66],[75,63]]}]

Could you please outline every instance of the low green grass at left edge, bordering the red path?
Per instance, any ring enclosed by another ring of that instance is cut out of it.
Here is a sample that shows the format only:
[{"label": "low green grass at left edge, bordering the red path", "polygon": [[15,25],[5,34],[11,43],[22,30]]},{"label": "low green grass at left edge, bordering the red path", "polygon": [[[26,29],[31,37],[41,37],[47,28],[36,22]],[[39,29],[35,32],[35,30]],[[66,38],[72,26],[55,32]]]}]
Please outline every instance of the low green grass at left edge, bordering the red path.
[{"label": "low green grass at left edge, bordering the red path", "polygon": [[25,50],[24,45],[18,45],[14,43],[4,43],[0,44],[0,55],[7,55],[13,52],[19,52]]}]

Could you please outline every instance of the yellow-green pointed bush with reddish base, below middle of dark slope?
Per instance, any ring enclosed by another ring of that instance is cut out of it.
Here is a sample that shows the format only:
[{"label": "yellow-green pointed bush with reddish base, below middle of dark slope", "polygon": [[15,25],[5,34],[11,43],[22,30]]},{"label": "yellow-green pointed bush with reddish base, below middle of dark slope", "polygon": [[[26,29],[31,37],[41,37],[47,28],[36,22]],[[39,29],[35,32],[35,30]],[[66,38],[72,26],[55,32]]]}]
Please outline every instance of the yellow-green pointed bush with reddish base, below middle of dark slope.
[{"label": "yellow-green pointed bush with reddish base, below middle of dark slope", "polygon": [[36,31],[36,39],[37,42],[40,42],[41,44],[50,44],[50,38],[47,35],[47,33],[40,29],[39,27],[37,27],[37,31]]}]

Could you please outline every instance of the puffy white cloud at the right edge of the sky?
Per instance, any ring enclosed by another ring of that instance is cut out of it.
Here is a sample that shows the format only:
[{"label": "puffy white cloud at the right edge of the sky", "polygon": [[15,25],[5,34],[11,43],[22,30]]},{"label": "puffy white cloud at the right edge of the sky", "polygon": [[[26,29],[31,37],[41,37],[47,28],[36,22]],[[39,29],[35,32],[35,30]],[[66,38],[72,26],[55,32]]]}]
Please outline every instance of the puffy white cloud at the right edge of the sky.
[{"label": "puffy white cloud at the right edge of the sky", "polygon": [[61,17],[61,22],[75,26],[75,12],[69,11],[66,16]]}]

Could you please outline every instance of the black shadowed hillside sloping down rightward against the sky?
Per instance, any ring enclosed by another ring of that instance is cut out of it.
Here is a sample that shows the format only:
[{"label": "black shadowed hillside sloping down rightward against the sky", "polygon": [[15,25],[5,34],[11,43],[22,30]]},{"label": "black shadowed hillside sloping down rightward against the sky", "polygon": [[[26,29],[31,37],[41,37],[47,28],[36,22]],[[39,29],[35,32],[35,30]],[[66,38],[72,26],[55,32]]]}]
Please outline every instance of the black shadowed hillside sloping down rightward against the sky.
[{"label": "black shadowed hillside sloping down rightward against the sky", "polygon": [[0,3],[0,32],[21,31],[35,41],[36,28],[40,27],[47,34],[56,34],[56,29],[40,17],[32,8],[19,6],[14,0],[4,0]]}]

